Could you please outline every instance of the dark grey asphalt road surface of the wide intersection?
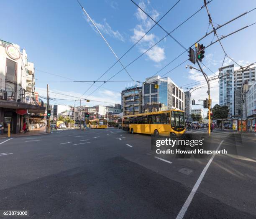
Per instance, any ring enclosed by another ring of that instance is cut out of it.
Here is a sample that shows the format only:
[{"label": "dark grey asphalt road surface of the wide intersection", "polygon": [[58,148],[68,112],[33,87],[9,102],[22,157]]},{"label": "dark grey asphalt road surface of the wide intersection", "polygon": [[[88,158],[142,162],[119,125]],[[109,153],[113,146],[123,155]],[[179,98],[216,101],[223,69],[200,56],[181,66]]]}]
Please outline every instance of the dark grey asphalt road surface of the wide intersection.
[{"label": "dark grey asphalt road surface of the wide intersection", "polygon": [[[216,133],[216,143],[228,143],[227,135]],[[251,135],[251,147],[255,140]],[[254,155],[216,155],[212,161],[156,157],[151,136],[119,129],[4,141],[0,210],[28,210],[36,219],[256,217]]]}]

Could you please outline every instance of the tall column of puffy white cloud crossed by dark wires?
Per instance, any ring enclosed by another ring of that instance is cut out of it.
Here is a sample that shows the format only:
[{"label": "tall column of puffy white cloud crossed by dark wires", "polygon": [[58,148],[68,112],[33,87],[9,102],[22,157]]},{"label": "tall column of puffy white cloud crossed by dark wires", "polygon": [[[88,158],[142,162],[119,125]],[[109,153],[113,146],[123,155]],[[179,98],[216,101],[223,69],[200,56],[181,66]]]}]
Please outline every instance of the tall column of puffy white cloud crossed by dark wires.
[{"label": "tall column of puffy white cloud crossed by dark wires", "polygon": [[[148,5],[150,5],[149,1],[147,1],[147,3],[141,1],[138,5],[144,11],[146,11],[154,20],[158,20],[159,13],[154,9],[149,10],[147,7]],[[136,43],[154,25],[154,21],[148,18],[148,16],[139,8],[137,9],[135,16],[138,19],[139,24],[137,24],[135,28],[133,28],[133,35],[131,36],[131,41],[133,43]],[[139,50],[141,52],[145,52],[149,47],[156,43],[156,40],[157,37],[154,33],[145,35],[138,43]],[[164,48],[161,48],[159,45],[155,45],[151,50],[146,53],[146,55],[150,60],[156,63],[159,63],[165,59]]]}]

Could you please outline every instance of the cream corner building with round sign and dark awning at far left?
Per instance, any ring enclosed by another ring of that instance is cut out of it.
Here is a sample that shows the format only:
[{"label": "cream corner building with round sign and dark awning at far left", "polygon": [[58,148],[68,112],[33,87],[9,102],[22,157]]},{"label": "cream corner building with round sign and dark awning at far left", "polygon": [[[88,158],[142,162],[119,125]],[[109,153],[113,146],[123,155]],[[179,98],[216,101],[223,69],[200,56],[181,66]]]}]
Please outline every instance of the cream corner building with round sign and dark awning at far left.
[{"label": "cream corner building with round sign and dark awning at far left", "polygon": [[10,131],[18,133],[28,117],[36,116],[31,113],[45,113],[43,101],[35,96],[34,74],[26,50],[0,40],[0,124],[4,132],[10,124]]}]

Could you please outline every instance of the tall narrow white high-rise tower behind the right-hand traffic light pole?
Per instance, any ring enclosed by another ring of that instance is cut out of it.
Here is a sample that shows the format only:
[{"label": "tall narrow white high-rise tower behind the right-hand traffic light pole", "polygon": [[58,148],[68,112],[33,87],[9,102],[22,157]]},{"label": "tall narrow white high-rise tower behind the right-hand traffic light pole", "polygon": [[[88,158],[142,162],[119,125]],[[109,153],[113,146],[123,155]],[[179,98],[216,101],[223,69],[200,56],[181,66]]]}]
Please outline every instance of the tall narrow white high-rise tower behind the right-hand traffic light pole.
[{"label": "tall narrow white high-rise tower behind the right-hand traffic light pole", "polygon": [[228,117],[234,115],[234,65],[219,68],[219,105],[228,106]]}]

